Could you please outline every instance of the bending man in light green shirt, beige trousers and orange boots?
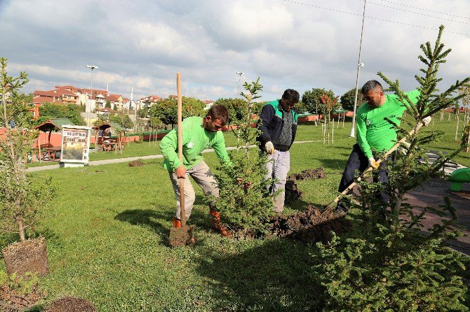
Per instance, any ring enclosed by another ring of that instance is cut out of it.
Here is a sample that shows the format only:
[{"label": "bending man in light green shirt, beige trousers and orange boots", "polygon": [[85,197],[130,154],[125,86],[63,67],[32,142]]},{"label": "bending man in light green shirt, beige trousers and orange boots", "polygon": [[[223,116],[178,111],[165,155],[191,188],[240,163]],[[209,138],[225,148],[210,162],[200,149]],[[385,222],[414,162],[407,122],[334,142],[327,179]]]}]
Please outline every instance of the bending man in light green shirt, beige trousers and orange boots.
[{"label": "bending man in light green shirt, beige trousers and orange boots", "polygon": [[[221,162],[230,162],[225,149],[222,127],[229,121],[229,111],[222,105],[209,109],[205,118],[189,117],[182,122],[183,163],[177,154],[177,128],[163,137],[160,143],[161,153],[165,158],[163,166],[170,174],[177,201],[176,213],[173,216],[173,227],[181,227],[180,187],[178,178],[184,178],[184,208],[186,218],[191,215],[196,194],[189,181],[189,176],[202,188],[206,196],[219,196],[219,187],[213,173],[210,171],[201,155],[206,148],[213,148]],[[210,215],[213,228],[223,236],[230,232],[220,222],[220,213],[210,204]]]}]

